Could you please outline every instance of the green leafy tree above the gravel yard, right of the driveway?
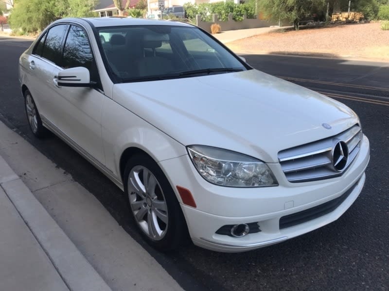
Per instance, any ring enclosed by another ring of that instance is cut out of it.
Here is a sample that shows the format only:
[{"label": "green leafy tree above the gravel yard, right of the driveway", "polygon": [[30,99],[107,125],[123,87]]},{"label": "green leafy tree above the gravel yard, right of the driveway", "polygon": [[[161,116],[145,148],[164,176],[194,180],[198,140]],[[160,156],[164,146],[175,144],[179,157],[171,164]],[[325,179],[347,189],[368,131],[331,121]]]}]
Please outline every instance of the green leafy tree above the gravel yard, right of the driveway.
[{"label": "green leafy tree above the gravel yard, right of the driveway", "polygon": [[264,14],[274,20],[289,20],[295,30],[299,30],[299,22],[315,9],[324,10],[326,0],[259,0],[259,7]]}]

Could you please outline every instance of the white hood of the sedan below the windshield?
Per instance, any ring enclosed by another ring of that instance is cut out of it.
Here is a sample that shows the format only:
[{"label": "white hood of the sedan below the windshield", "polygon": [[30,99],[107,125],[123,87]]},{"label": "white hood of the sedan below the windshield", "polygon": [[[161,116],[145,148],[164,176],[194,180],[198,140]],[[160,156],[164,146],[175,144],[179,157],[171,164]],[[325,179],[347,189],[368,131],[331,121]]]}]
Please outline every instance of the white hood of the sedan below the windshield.
[{"label": "white hood of the sedan below the windshield", "polygon": [[342,103],[255,69],[115,84],[112,96],[184,146],[226,148],[264,162],[358,122]]}]

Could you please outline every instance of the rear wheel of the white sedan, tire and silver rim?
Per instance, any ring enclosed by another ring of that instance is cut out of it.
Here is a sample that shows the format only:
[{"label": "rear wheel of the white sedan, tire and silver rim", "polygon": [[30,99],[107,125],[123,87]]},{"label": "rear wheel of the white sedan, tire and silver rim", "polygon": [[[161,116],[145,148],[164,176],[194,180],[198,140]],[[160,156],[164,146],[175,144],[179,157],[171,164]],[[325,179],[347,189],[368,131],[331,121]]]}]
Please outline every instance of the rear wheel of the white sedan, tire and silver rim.
[{"label": "rear wheel of the white sedan, tire and silver rim", "polygon": [[29,90],[24,91],[24,109],[31,131],[37,138],[43,138],[48,130],[43,126],[35,101]]}]

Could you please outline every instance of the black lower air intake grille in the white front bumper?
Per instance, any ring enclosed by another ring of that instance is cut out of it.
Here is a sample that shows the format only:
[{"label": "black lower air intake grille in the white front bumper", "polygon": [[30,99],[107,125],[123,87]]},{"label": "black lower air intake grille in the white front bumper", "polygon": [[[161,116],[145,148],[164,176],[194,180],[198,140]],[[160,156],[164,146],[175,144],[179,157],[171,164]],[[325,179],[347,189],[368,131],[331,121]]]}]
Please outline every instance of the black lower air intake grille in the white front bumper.
[{"label": "black lower air intake grille in the white front bumper", "polygon": [[330,213],[343,203],[344,200],[353,192],[355,186],[358,184],[356,182],[349,190],[347,190],[345,193],[343,193],[341,196],[328,201],[326,203],[320,204],[318,206],[315,206],[313,208],[302,210],[300,212],[296,212],[293,214],[289,214],[286,216],[281,217],[280,219],[280,229],[290,227],[290,226],[296,226],[298,224],[310,221],[312,219],[318,218],[320,216],[323,216],[327,213]]}]

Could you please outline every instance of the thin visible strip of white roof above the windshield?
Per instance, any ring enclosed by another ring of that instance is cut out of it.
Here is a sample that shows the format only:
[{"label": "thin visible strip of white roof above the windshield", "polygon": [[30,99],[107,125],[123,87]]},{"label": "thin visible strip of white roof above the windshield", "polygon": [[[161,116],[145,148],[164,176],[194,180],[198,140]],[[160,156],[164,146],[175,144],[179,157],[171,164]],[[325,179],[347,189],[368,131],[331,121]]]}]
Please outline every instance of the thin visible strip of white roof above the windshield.
[{"label": "thin visible strip of white roof above the windshield", "polygon": [[84,21],[91,23],[94,27],[131,26],[131,25],[166,25],[166,26],[193,27],[193,25],[191,24],[180,22],[180,21],[127,18],[127,17],[62,18],[55,22],[56,23],[76,22],[76,23],[85,24]]}]

